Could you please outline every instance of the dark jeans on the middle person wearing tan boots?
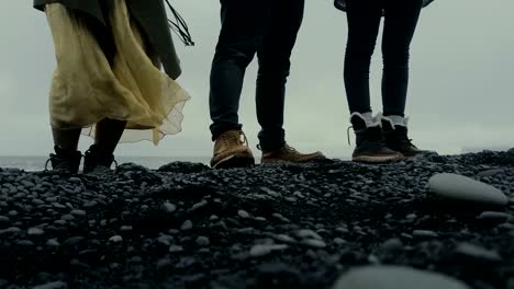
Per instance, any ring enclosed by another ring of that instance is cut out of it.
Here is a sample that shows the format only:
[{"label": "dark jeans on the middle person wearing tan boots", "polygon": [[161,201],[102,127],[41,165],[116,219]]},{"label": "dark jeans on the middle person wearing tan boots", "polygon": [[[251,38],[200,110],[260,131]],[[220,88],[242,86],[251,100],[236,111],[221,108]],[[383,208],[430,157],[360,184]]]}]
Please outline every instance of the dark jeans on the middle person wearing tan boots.
[{"label": "dark jeans on the middle person wearing tan boots", "polygon": [[213,140],[227,130],[243,127],[237,114],[243,80],[257,54],[260,147],[275,150],[284,144],[286,81],[303,9],[304,0],[221,0],[222,27],[211,70]]}]

